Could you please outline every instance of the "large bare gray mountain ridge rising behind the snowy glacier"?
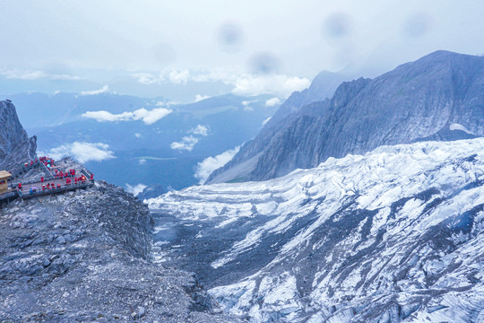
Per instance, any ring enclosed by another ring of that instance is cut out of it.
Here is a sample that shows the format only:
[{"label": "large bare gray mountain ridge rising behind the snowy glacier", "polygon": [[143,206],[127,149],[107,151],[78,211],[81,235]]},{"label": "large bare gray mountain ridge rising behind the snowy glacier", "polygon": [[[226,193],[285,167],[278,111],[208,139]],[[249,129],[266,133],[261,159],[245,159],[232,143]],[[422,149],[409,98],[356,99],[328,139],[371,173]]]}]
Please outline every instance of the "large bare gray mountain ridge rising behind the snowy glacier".
[{"label": "large bare gray mountain ridge rising behind the snowy glacier", "polygon": [[[284,118],[272,136],[247,143],[209,182],[258,153],[238,181],[272,179],[328,157],[366,153],[380,145],[449,140],[454,124],[484,135],[484,57],[437,51],[374,80],[342,83],[332,100]],[[458,138],[462,138],[457,136]],[[224,179],[227,179],[225,177]],[[227,181],[227,180],[224,180]]]}]

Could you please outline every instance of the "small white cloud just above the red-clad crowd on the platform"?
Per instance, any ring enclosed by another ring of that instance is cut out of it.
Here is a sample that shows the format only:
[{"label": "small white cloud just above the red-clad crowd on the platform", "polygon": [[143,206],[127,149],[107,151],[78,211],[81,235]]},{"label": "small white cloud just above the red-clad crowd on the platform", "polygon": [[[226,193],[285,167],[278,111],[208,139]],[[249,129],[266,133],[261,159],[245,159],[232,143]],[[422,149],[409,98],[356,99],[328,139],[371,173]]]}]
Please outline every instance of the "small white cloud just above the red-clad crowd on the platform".
[{"label": "small white cloud just above the red-clad crowd on the platform", "polygon": [[108,144],[102,143],[79,143],[62,144],[52,148],[48,155],[55,160],[65,156],[73,156],[78,162],[102,162],[111,158],[116,158],[113,152],[108,150]]}]

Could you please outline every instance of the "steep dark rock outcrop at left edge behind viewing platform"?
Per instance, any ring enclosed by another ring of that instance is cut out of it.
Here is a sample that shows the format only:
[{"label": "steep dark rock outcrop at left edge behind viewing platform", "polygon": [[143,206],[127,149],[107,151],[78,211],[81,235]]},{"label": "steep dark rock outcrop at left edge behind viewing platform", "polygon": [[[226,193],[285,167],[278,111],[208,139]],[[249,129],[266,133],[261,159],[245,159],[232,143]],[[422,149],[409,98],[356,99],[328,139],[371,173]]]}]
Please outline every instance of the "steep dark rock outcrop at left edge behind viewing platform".
[{"label": "steep dark rock outcrop at left edge behind viewing platform", "polygon": [[0,101],[0,169],[15,172],[37,158],[37,138],[29,138],[10,100]]}]

